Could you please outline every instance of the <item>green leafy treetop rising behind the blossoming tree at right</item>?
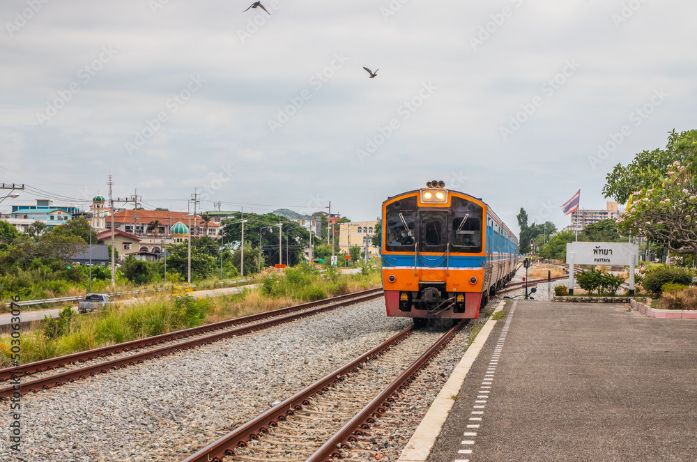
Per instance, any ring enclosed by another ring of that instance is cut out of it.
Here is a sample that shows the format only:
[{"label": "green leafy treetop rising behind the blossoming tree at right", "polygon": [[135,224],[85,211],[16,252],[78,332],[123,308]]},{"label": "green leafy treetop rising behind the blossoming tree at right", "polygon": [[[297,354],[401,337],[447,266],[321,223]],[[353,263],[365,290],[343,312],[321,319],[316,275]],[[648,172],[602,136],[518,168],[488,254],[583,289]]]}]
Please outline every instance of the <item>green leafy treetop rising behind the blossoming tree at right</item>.
[{"label": "green leafy treetop rising behind the blossoming tree at right", "polygon": [[682,165],[691,164],[694,166],[691,169],[696,169],[697,164],[694,163],[696,157],[697,130],[680,133],[673,130],[668,134],[668,144],[665,149],[642,151],[627,167],[617,164],[606,176],[603,194],[619,203],[627,203],[632,192],[660,186],[673,162]]}]

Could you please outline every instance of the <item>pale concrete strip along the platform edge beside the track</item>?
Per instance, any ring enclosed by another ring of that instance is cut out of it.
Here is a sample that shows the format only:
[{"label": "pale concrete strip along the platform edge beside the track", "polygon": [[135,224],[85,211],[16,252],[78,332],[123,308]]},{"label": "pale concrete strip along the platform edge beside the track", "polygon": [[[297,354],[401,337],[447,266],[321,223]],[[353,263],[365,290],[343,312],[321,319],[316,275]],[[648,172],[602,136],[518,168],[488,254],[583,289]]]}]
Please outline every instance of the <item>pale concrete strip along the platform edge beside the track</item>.
[{"label": "pale concrete strip along the platform edge beside the track", "polygon": [[[499,302],[498,307],[496,307],[493,313],[501,311],[505,304],[506,302],[504,300]],[[447,379],[441,392],[438,393],[438,396],[434,399],[434,402],[431,404],[428,412],[424,415],[424,419],[409,439],[409,442],[406,444],[397,462],[424,462],[428,458],[431,453],[431,448],[434,446],[436,438],[438,438],[438,435],[441,433],[443,424],[445,424],[445,419],[447,419],[447,416],[450,414],[452,405],[455,402],[451,396],[458,394],[460,391],[460,387],[470,371],[472,364],[474,364],[484,344],[487,342],[487,339],[489,339],[489,334],[491,334],[494,325],[496,325],[496,320],[493,319],[493,313],[489,321],[484,324],[482,330],[477,334],[475,341],[467,348],[462,359],[455,369],[453,369],[450,378]]]}]

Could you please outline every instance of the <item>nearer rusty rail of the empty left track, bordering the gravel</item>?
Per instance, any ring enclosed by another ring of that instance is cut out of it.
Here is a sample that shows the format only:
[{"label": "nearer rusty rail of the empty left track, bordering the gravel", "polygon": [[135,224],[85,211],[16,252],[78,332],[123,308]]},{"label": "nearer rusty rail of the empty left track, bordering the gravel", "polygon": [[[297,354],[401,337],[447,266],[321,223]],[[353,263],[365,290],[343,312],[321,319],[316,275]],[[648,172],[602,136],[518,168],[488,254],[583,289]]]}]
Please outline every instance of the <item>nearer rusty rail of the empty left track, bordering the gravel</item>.
[{"label": "nearer rusty rail of the empty left track, bordering the gravel", "polygon": [[73,382],[77,379],[87,378],[89,376],[95,376],[97,374],[104,374],[112,369],[122,369],[124,367],[142,363],[145,360],[161,356],[167,356],[171,353],[177,353],[179,351],[184,351],[190,348],[194,348],[196,346],[210,344],[214,341],[218,341],[221,339],[227,339],[229,337],[235,337],[236,335],[247,334],[256,330],[270,328],[274,325],[296,321],[300,318],[312,316],[322,311],[328,311],[330,309],[335,309],[344,305],[350,305],[355,302],[372,300],[374,298],[378,298],[381,295],[381,293],[372,293],[369,295],[364,295],[362,298],[359,299],[346,300],[332,305],[326,305],[319,308],[309,309],[296,314],[286,314],[285,316],[282,316],[280,318],[271,319],[269,321],[262,321],[261,323],[247,325],[241,328],[227,330],[225,332],[218,332],[216,334],[206,335],[205,337],[199,337],[198,339],[184,341],[179,344],[155,348],[150,351],[144,351],[142,353],[136,353],[135,355],[128,355],[126,357],[100,362],[98,364],[81,367],[79,369],[72,369],[52,376],[36,378],[34,380],[27,380],[26,382],[18,385],[0,388],[0,400],[10,399],[10,397],[12,397],[15,394],[15,392],[20,392],[20,394],[27,394],[29,392],[36,392],[38,390],[48,390],[49,388],[60,386],[64,383]]}]

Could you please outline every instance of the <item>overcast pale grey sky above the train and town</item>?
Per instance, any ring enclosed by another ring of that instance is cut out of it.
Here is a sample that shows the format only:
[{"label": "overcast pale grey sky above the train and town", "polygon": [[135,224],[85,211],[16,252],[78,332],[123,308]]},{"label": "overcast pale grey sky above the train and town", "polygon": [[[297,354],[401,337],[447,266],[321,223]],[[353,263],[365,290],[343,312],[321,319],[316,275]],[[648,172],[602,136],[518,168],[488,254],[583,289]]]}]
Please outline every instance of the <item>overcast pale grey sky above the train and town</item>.
[{"label": "overcast pale grey sky above the train and town", "polygon": [[694,1],[252,3],[3,1],[0,183],[31,190],[0,210],[87,206],[111,174],[146,208],[374,220],[443,180],[562,228],[696,128]]}]

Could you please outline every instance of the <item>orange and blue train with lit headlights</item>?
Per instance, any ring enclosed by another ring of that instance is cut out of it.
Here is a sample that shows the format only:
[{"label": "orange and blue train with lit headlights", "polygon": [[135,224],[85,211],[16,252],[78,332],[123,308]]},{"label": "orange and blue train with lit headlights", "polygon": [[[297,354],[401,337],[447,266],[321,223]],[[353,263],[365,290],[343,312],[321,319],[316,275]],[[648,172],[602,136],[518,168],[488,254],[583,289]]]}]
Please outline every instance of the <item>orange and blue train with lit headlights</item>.
[{"label": "orange and blue train with lit headlights", "polygon": [[382,279],[388,316],[477,318],[512,279],[518,239],[482,199],[441,180],[382,206]]}]

